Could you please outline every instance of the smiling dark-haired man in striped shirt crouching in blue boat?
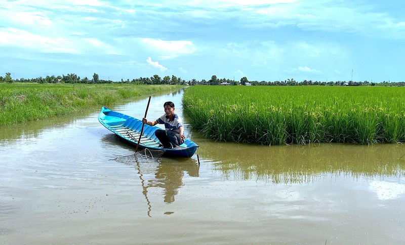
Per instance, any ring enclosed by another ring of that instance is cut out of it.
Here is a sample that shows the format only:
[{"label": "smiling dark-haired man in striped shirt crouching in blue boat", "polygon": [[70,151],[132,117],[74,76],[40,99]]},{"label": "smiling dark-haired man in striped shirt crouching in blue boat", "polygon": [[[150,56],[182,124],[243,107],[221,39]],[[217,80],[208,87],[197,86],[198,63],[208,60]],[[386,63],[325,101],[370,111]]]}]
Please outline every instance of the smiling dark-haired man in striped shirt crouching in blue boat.
[{"label": "smiling dark-haired man in striped shirt crouching in blue boat", "polygon": [[163,116],[159,117],[156,121],[148,121],[146,118],[142,118],[142,122],[149,126],[165,124],[165,130],[157,129],[155,135],[163,145],[163,148],[176,148],[180,146],[186,138],[183,134],[183,122],[181,118],[174,113],[175,108],[173,102],[165,102],[163,107],[165,108],[165,114]]}]

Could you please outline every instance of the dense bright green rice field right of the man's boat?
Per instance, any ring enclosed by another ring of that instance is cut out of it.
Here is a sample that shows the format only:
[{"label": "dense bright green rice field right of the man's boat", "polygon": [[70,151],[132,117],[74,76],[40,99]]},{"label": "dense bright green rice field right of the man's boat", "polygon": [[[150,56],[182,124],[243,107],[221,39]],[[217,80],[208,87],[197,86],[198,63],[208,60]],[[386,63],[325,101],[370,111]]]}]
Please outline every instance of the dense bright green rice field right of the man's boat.
[{"label": "dense bright green rice field right of the man's boat", "polygon": [[193,86],[183,110],[206,137],[258,144],[405,141],[405,87]]}]

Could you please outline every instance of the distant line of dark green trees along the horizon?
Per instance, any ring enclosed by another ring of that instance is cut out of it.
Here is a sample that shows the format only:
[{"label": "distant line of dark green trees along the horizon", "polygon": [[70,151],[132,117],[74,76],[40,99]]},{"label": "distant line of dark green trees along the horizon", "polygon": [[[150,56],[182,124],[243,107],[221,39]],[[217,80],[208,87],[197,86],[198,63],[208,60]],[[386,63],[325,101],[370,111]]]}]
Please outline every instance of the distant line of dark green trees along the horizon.
[{"label": "distant line of dark green trees along the horizon", "polygon": [[303,80],[297,82],[294,78],[289,78],[284,81],[249,81],[247,77],[242,77],[240,81],[231,80],[231,79],[219,79],[216,75],[213,75],[208,81],[203,79],[198,81],[196,79],[184,80],[175,75],[165,76],[161,78],[159,75],[153,75],[151,77],[140,77],[134,78],[132,80],[127,79],[120,81],[111,81],[103,80],[99,78],[97,73],[93,74],[93,78],[89,79],[88,77],[80,78],[74,73],[62,75],[62,76],[46,76],[37,77],[37,78],[20,78],[12,79],[11,73],[6,73],[6,76],[0,76],[0,82],[37,82],[37,83],[130,83],[130,84],[171,84],[171,85],[268,85],[268,86],[309,86],[309,85],[318,85],[318,86],[405,86],[405,82],[369,82],[369,81],[312,81],[312,80]]}]

